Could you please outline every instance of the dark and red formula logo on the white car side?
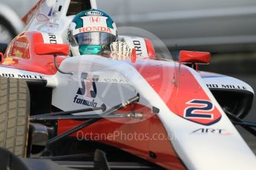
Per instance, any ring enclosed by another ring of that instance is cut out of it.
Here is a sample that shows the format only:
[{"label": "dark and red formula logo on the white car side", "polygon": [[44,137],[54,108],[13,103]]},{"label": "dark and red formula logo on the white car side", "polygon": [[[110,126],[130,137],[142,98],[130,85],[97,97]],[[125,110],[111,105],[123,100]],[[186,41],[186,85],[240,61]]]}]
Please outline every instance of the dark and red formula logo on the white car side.
[{"label": "dark and red formula logo on the white car side", "polygon": [[99,75],[91,75],[90,73],[82,72],[81,87],[77,89],[76,96],[73,98],[73,103],[96,107],[97,103],[93,98],[96,98],[97,95],[97,80],[99,80]]}]

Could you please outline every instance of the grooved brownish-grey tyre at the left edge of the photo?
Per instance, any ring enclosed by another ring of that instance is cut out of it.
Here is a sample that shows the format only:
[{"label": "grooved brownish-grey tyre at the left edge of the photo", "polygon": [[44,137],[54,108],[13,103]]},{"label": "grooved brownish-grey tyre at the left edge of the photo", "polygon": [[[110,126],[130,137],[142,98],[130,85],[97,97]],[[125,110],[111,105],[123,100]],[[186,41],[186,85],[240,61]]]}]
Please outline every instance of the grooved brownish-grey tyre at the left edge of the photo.
[{"label": "grooved brownish-grey tyre at the left edge of the photo", "polygon": [[0,147],[26,157],[30,96],[27,83],[0,76]]}]

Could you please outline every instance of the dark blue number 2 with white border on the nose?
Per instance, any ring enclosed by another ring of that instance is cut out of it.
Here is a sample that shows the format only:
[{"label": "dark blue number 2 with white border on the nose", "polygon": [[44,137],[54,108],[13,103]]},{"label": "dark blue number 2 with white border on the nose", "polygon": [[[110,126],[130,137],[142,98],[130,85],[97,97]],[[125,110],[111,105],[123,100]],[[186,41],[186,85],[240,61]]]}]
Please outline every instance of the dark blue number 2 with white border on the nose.
[{"label": "dark blue number 2 with white border on the nose", "polygon": [[[214,114],[211,111],[214,109],[211,101],[204,101],[199,99],[194,99],[192,101],[188,101],[186,104],[192,105],[188,106],[184,110],[184,118],[190,119],[213,119]],[[197,105],[197,106],[194,106]]]}]

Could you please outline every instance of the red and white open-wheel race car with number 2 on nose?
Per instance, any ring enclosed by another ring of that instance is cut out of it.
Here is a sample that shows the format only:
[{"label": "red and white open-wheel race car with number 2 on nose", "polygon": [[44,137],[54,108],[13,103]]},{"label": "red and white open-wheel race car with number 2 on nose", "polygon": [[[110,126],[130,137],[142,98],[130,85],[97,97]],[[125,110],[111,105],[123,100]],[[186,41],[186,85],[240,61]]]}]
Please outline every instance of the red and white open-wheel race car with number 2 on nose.
[{"label": "red and white open-wheel race car with number 2 on nose", "polygon": [[255,154],[233,125],[256,134],[241,120],[252,87],[199,71],[209,52],[160,58],[146,37],[119,35],[133,47],[131,59],[70,57],[73,13],[95,4],[39,1],[1,55],[0,143],[13,153],[0,150],[7,155],[1,167],[255,169]]}]

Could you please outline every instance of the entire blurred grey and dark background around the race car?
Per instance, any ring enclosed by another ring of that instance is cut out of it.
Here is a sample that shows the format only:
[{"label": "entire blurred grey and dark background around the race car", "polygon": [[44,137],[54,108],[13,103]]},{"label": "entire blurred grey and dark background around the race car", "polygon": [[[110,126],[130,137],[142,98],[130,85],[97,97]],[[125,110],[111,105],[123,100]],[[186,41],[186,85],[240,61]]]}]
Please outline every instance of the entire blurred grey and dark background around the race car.
[{"label": "entire blurred grey and dark background around the race car", "polygon": [[[24,28],[21,18],[38,0],[0,0],[0,42]],[[83,0],[78,0],[83,1]],[[157,35],[171,52],[209,51],[201,70],[231,75],[256,90],[255,0],[96,0],[117,27],[140,27]],[[246,120],[256,120],[256,102]],[[256,153],[256,139],[239,129]]]}]

